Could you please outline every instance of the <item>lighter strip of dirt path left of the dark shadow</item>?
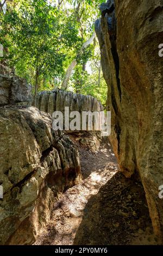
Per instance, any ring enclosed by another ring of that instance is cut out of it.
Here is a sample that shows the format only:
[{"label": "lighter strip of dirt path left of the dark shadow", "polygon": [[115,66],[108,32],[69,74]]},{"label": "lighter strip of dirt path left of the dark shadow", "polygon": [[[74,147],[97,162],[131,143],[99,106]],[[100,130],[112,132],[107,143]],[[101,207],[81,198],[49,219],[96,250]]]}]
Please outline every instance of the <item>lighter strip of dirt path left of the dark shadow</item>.
[{"label": "lighter strip of dirt path left of the dark shadow", "polygon": [[68,189],[55,203],[51,221],[35,244],[73,245],[79,225],[87,213],[87,202],[118,170],[116,159],[110,155],[111,152],[108,141],[95,152],[81,148],[84,180]]}]

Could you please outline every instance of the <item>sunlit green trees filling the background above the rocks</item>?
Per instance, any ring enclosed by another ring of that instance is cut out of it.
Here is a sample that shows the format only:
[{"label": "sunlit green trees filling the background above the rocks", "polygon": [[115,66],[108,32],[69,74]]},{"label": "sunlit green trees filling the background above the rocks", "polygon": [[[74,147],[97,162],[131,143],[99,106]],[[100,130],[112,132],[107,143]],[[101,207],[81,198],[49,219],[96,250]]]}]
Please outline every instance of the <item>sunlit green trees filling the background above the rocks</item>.
[{"label": "sunlit green trees filling the background above the rocks", "polygon": [[94,36],[86,44],[95,33],[98,5],[102,2],[1,1],[0,43],[5,61],[18,76],[33,84],[34,94],[61,88],[66,71],[75,60],[65,89],[91,94],[105,102],[106,85],[97,39]]}]

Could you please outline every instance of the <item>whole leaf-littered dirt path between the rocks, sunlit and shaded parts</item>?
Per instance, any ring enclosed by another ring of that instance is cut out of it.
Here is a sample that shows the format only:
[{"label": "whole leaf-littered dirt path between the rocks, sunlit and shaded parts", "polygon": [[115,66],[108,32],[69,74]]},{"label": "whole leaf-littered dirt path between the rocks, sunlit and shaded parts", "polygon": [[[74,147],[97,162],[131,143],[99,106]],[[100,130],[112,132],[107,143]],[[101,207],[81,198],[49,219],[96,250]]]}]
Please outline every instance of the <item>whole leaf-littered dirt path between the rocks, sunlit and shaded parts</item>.
[{"label": "whole leaf-littered dirt path between the rocks, sunlit and shaded parts", "polygon": [[118,172],[108,140],[98,151],[79,152],[83,182],[55,203],[35,245],[158,244],[143,188]]}]

